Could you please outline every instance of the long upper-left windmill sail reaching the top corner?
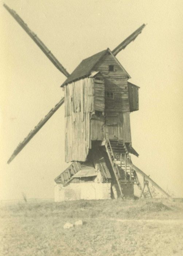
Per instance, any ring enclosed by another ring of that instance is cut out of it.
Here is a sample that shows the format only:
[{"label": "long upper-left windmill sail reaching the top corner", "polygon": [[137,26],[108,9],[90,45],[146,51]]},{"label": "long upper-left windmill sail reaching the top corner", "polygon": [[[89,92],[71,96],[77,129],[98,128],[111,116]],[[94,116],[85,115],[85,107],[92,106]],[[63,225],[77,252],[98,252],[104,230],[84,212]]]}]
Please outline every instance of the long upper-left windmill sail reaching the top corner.
[{"label": "long upper-left windmill sail reaching the top corner", "polygon": [[56,68],[59,69],[66,77],[69,76],[67,70],[62,66],[62,64],[55,58],[55,56],[51,53],[50,50],[43,44],[43,42],[37,37],[37,35],[32,32],[26,23],[20,18],[18,14],[12,9],[10,9],[6,4],[3,4],[6,10],[13,16],[13,18],[19,23],[19,25],[27,32],[27,34],[32,38],[32,40],[39,46],[39,48],[44,52],[44,54],[51,60],[51,62],[55,65]]}]

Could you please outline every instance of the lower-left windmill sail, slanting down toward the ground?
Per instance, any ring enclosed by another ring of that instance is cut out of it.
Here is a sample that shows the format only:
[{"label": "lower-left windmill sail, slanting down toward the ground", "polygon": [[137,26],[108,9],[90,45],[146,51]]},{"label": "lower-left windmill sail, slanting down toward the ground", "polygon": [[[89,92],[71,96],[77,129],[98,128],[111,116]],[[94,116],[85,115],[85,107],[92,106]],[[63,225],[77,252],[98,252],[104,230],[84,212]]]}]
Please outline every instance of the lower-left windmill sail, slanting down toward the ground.
[{"label": "lower-left windmill sail, slanting down toward the ground", "polygon": [[55,105],[54,108],[50,110],[50,112],[35,126],[34,130],[32,130],[27,137],[23,140],[23,142],[20,142],[20,144],[17,146],[11,157],[9,158],[7,163],[10,163],[17,154],[26,146],[26,144],[34,137],[34,135],[40,130],[40,128],[43,127],[43,125],[50,119],[50,117],[59,109],[59,107],[63,104],[64,98],[62,98],[57,105]]}]

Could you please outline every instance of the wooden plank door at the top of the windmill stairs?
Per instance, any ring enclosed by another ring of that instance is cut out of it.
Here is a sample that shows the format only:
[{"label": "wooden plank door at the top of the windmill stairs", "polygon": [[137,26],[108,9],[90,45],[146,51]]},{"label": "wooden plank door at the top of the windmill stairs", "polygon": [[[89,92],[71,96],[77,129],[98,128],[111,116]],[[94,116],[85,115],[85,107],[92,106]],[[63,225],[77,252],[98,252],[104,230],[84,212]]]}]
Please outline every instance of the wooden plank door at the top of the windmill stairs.
[{"label": "wooden plank door at the top of the windmill stairs", "polygon": [[106,116],[106,132],[109,139],[117,139],[117,116]]}]

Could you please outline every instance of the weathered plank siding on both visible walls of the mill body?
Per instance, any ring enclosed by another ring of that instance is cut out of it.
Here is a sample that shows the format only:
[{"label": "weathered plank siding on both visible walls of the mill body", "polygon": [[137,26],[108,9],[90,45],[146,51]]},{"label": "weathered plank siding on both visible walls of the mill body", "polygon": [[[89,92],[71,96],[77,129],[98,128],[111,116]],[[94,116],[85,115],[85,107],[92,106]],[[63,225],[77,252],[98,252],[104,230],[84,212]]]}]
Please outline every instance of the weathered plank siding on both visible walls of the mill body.
[{"label": "weathered plank siding on both visible walls of the mill body", "polygon": [[[109,65],[114,71],[109,71]],[[131,142],[128,74],[109,52],[93,71],[93,75],[65,86],[66,162],[86,161],[92,140],[102,141],[106,132]],[[117,116],[116,127],[106,125],[108,116]]]}]

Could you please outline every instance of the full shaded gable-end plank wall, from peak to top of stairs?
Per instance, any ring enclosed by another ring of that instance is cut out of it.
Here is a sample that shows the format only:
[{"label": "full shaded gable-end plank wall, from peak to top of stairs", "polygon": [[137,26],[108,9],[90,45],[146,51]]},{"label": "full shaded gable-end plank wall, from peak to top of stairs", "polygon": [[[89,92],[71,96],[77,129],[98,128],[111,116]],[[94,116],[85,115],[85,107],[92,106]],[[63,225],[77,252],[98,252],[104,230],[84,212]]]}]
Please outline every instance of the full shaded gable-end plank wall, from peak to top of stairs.
[{"label": "full shaded gable-end plank wall, from peak to top of stairs", "polygon": [[[114,71],[109,71],[109,65],[114,66]],[[109,98],[105,95],[106,120],[105,127],[103,128],[104,136],[105,133],[108,132],[111,133],[111,138],[131,142],[128,76],[126,71],[109,53],[106,53],[104,57],[102,57],[94,69],[100,71],[104,77],[105,91],[114,94],[113,98]],[[112,117],[117,118],[117,124],[106,123],[108,117],[110,117],[110,119]]]}]

